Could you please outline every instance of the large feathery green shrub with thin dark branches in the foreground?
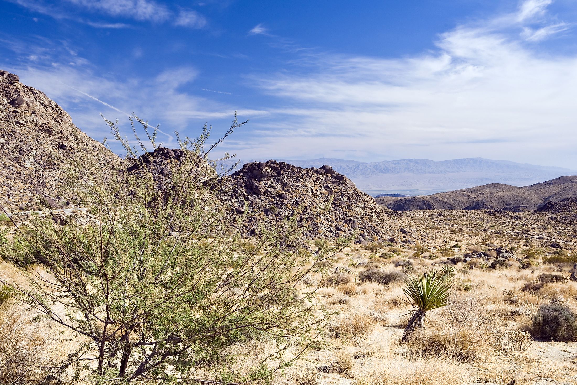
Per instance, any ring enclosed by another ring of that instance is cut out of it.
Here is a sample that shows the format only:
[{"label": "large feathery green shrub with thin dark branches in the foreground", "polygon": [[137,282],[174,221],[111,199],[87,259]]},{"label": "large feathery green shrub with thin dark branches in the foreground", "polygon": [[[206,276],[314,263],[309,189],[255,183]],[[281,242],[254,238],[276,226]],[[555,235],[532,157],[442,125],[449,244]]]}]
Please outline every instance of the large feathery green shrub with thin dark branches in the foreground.
[{"label": "large feathery green shrub with thin dark branches in the foreground", "polygon": [[[16,235],[7,254],[28,282],[14,293],[76,335],[78,349],[55,375],[77,372],[92,383],[263,380],[319,334],[328,314],[301,283],[336,250],[319,242],[316,254],[299,251],[295,220],[243,239],[203,183],[213,172],[204,161],[209,132],[181,141],[185,156],[162,186],[146,156],[129,175],[99,179],[89,170],[76,179],[84,221],[36,217]],[[148,138],[155,146],[156,131]],[[258,354],[263,344],[266,355]]]}]

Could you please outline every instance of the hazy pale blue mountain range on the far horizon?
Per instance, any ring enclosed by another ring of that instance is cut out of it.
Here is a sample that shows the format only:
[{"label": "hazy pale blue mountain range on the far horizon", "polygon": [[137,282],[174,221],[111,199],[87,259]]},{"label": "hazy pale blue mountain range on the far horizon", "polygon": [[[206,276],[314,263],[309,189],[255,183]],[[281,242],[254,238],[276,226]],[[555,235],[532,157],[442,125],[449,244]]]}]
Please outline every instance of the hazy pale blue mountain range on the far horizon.
[{"label": "hazy pale blue mountain range on the far horizon", "polygon": [[401,159],[381,162],[319,158],[283,161],[302,168],[330,165],[335,171],[353,180],[358,188],[371,195],[429,195],[489,183],[528,186],[560,176],[577,175],[576,170],[561,167],[485,158],[445,161]]}]

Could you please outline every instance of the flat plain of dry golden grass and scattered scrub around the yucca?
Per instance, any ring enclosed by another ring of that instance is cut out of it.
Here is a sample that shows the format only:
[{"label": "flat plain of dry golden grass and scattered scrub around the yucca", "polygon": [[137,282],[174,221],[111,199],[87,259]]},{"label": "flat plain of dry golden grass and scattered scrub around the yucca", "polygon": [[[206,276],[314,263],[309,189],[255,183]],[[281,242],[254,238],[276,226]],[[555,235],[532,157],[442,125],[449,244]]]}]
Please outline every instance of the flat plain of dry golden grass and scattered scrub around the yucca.
[{"label": "flat plain of dry golden grass and scattered scrub around the yucca", "polygon": [[[403,238],[352,244],[302,280],[332,316],[273,384],[577,384],[577,282],[570,278],[577,228],[541,214],[485,210],[398,220]],[[496,247],[513,257],[492,267]],[[481,251],[487,256],[463,259]],[[402,342],[411,312],[406,277],[444,265],[455,266],[451,303]],[[0,265],[0,275],[13,274]],[[25,306],[2,302],[0,383],[42,383],[38,368],[65,357],[73,342],[56,340],[58,328]],[[250,361],[267,349],[230,353]]]}]

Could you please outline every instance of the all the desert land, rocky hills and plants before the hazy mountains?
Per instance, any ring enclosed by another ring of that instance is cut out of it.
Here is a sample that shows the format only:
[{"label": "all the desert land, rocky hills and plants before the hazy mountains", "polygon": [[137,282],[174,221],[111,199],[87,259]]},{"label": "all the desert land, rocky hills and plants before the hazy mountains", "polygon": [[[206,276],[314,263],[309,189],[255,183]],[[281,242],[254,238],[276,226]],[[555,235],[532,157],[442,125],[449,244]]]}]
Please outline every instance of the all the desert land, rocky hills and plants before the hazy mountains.
[{"label": "all the desert land, rocky hills and plants before the hazy mountains", "polygon": [[190,148],[121,158],[0,71],[0,383],[577,383],[577,176],[372,198]]}]

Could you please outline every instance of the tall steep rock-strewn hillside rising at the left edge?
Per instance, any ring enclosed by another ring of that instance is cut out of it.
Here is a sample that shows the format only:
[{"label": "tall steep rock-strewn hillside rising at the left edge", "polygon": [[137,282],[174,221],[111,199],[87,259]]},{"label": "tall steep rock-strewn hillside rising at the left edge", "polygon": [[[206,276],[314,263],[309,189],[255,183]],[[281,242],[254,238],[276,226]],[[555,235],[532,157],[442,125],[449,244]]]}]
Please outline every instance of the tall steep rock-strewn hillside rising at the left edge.
[{"label": "tall steep rock-strewn hillside rising at the left edge", "polygon": [[95,159],[104,174],[121,164],[121,158],[81,132],[43,92],[0,70],[2,205],[20,210],[36,209],[39,201],[66,205],[73,197],[63,193],[63,175]]}]

